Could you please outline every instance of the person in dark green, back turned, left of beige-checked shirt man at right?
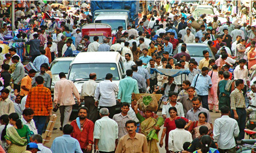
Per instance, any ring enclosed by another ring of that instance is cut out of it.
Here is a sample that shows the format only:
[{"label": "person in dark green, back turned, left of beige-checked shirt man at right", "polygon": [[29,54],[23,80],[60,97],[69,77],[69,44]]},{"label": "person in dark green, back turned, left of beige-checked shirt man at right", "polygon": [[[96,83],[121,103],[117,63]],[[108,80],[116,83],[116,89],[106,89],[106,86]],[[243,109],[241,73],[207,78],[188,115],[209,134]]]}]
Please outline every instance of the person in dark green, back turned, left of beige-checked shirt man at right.
[{"label": "person in dark green, back turned, left of beige-checked shirt man at right", "polygon": [[[219,97],[219,108],[223,106],[228,106],[229,108],[231,108],[230,94],[235,89],[235,85],[234,85],[234,82],[232,82],[231,84],[230,83],[227,84],[227,82],[231,82],[229,81],[229,78],[230,78],[229,72],[226,72],[226,71],[223,72],[223,76],[224,76],[224,80],[219,81],[218,89],[217,89],[217,95]],[[228,89],[226,89],[226,86],[228,87]]]}]

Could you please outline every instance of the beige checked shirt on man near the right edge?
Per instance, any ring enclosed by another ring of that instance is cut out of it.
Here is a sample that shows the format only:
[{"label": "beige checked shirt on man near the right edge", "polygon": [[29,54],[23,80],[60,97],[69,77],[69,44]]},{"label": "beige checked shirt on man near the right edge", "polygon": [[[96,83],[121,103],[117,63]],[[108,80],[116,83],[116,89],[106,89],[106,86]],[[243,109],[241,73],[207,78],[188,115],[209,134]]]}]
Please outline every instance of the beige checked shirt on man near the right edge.
[{"label": "beige checked shirt on man near the right edge", "polygon": [[237,88],[234,89],[230,94],[230,100],[232,110],[236,110],[236,108],[246,108],[243,91],[239,91]]}]

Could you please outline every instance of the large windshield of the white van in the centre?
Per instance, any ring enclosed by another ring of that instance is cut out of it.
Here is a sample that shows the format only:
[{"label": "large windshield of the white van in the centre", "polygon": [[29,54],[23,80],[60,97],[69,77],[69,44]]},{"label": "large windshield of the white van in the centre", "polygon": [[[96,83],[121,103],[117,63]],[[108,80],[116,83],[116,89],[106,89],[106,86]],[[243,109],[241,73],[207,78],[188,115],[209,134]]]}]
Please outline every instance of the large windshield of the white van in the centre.
[{"label": "large windshield of the white van in the centre", "polygon": [[117,65],[115,63],[73,64],[70,68],[68,80],[89,80],[89,74],[92,72],[97,74],[97,80],[105,80],[107,73],[113,74],[112,80],[120,80]]}]

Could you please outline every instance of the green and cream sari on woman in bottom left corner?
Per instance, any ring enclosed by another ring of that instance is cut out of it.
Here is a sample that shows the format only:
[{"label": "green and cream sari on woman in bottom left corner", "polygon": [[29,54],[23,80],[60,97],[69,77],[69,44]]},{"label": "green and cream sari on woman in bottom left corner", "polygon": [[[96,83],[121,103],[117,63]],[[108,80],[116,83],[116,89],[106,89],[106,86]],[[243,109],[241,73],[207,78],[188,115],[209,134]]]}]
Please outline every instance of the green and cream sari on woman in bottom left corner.
[{"label": "green and cream sari on woman in bottom left corner", "polygon": [[26,151],[26,145],[29,143],[27,139],[28,130],[26,125],[23,125],[22,129],[10,127],[6,130],[5,138],[11,141],[8,153],[23,153]]}]

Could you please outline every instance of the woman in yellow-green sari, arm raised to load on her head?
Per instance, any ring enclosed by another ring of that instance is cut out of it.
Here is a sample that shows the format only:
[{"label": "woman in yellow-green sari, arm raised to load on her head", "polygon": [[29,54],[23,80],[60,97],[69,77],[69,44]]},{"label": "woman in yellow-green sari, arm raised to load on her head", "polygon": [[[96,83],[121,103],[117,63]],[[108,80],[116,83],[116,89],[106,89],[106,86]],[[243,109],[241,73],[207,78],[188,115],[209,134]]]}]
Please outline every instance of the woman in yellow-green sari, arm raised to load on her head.
[{"label": "woman in yellow-green sari, arm raised to load on her head", "polygon": [[151,140],[148,139],[148,135],[150,131],[153,129],[157,130],[156,133],[159,132],[160,127],[156,126],[157,120],[155,118],[152,118],[152,111],[147,111],[144,112],[145,118],[141,116],[141,114],[138,111],[139,105],[137,104],[136,101],[132,102],[132,109],[136,114],[136,117],[140,121],[140,128],[141,128],[141,134],[145,135],[147,137],[147,142],[148,142],[148,149],[149,153],[159,153],[158,147],[157,147],[157,139],[152,138]]}]

